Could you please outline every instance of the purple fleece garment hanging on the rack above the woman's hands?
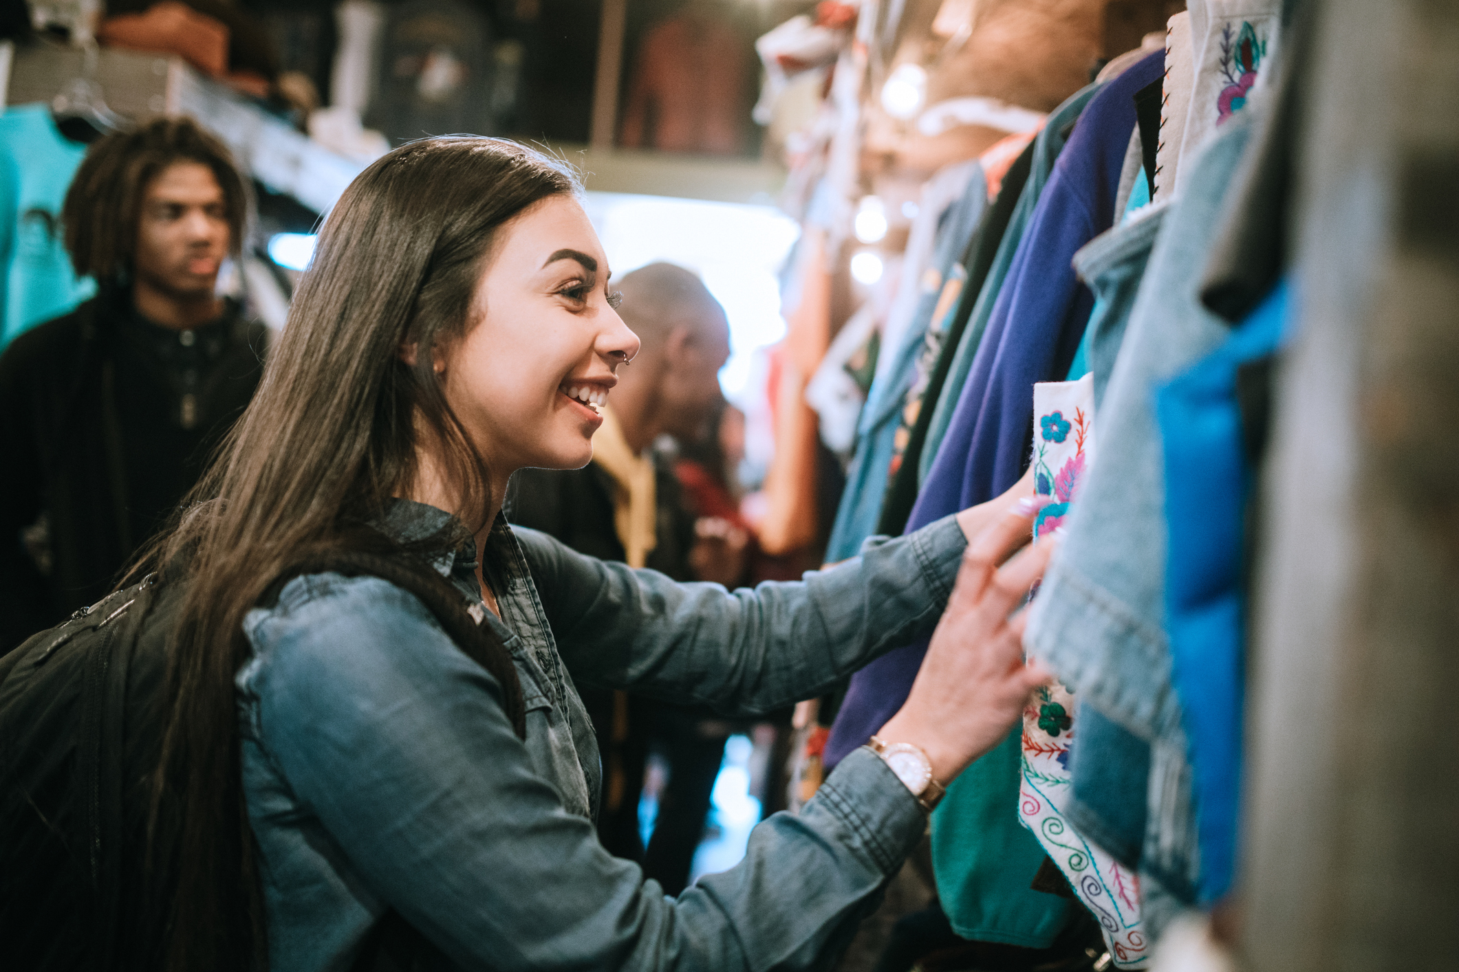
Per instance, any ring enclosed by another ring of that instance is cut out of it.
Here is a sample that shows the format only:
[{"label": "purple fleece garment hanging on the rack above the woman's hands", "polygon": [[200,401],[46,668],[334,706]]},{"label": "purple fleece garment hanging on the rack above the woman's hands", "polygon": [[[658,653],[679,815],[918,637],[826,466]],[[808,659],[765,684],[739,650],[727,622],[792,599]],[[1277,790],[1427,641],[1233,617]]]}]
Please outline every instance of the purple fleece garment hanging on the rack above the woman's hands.
[{"label": "purple fleece garment hanging on the rack above the woman's hands", "polygon": [[[1080,114],[1014,254],[907,532],[986,503],[1023,475],[1033,442],[1033,386],[1068,377],[1094,306],[1088,287],[1074,275],[1074,254],[1115,222],[1119,173],[1135,128],[1135,92],[1164,74],[1164,51],[1150,54]],[[827,768],[902,708],[925,653],[924,638],[852,676],[826,743]]]}]

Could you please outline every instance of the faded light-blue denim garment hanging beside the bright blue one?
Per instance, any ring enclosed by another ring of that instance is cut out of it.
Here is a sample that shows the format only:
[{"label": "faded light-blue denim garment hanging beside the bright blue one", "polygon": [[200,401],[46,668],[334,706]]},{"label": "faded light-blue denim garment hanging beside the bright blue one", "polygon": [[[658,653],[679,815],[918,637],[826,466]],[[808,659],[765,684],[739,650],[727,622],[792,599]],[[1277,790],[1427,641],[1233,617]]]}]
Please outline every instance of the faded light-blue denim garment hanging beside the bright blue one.
[{"label": "faded light-blue denim garment hanging beside the bright blue one", "polygon": [[[1166,482],[1153,393],[1230,335],[1227,324],[1201,305],[1198,284],[1210,230],[1224,211],[1255,114],[1243,111],[1217,130],[1164,216],[1094,417],[1100,462],[1084,481],[1024,635],[1029,651],[1085,704],[1150,743],[1147,791],[1129,794],[1142,796],[1147,806],[1141,876],[1185,902],[1196,899],[1199,847],[1180,705],[1170,682]],[[1147,914],[1154,936],[1158,917],[1158,909]]]}]

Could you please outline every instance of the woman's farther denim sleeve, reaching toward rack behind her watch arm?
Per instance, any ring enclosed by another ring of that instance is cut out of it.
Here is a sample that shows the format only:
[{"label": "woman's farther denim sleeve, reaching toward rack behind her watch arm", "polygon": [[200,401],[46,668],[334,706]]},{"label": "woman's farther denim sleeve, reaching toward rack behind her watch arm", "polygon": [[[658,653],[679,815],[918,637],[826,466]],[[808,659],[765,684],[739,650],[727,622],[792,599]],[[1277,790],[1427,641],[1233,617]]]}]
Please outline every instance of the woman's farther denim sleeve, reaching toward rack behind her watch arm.
[{"label": "woman's farther denim sleeve, reaching toward rack behind her watch arm", "polygon": [[856,557],[804,580],[730,592],[516,533],[575,681],[732,716],[818,695],[928,634],[967,546],[948,516],[897,539],[871,538]]}]

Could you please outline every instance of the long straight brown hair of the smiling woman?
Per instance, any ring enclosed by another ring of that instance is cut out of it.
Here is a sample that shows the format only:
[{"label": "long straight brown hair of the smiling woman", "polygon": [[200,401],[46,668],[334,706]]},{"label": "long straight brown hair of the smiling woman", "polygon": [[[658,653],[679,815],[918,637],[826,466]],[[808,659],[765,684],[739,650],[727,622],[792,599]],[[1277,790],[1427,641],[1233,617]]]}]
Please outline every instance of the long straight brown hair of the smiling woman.
[{"label": "long straight brown hair of the smiling woman", "polygon": [[[233,695],[248,657],[244,614],[302,549],[384,510],[416,471],[419,436],[444,444],[457,494],[480,497],[486,516],[490,478],[446,404],[432,348],[470,325],[503,223],[579,191],[572,171],[531,149],[430,138],[371,165],[325,220],[257,396],[153,555],[187,563],[190,577],[153,804],[153,823],[163,812],[178,822],[169,969],[267,962]],[[410,342],[414,364],[400,357]]]}]

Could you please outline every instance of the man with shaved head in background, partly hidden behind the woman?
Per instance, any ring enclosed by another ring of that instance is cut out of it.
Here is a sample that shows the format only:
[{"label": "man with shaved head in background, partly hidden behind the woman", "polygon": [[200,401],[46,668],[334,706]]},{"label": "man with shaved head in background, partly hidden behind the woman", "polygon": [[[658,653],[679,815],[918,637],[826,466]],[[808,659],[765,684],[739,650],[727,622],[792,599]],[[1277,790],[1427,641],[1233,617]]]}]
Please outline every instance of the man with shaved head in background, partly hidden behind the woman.
[{"label": "man with shaved head in background, partly hidden behind the woman", "polygon": [[[724,307],[699,277],[673,264],[636,270],[619,290],[620,315],[642,347],[619,369],[592,462],[522,469],[512,478],[506,517],[591,557],[732,586],[744,565],[743,541],[725,544],[722,532],[703,525],[696,532],[673,456],[655,447],[661,436],[687,443],[709,434],[721,404],[719,369],[730,357]],[[728,726],[705,711],[578,688],[603,755],[598,836],[608,853],[641,861],[646,877],[677,895],[703,834]],[[645,850],[638,804],[651,748],[668,758],[670,775]]]}]

